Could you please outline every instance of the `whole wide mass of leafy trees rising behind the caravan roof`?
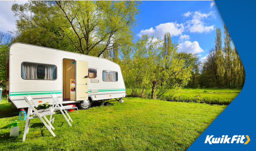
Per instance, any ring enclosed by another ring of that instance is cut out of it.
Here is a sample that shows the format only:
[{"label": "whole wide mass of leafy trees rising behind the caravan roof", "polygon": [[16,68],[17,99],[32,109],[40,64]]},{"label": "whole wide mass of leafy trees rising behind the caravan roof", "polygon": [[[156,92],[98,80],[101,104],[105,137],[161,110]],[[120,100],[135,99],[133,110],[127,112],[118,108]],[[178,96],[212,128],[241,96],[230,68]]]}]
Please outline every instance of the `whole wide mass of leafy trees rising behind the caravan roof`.
[{"label": "whole wide mass of leafy trees rising behind the caravan roof", "polygon": [[[129,44],[139,1],[29,1],[13,4],[18,40],[101,56]],[[35,35],[35,36],[34,36]]]}]

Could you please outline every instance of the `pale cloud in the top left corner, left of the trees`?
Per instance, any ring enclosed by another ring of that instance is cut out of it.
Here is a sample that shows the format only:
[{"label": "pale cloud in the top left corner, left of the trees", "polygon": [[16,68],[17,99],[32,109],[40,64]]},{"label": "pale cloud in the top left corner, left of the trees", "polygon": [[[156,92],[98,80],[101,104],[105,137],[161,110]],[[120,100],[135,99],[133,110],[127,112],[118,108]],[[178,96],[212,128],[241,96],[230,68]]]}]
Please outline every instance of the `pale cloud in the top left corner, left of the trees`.
[{"label": "pale cloud in the top left corner, left of the trees", "polygon": [[0,31],[7,32],[16,28],[14,13],[11,11],[11,5],[14,3],[23,4],[28,1],[0,1]]}]

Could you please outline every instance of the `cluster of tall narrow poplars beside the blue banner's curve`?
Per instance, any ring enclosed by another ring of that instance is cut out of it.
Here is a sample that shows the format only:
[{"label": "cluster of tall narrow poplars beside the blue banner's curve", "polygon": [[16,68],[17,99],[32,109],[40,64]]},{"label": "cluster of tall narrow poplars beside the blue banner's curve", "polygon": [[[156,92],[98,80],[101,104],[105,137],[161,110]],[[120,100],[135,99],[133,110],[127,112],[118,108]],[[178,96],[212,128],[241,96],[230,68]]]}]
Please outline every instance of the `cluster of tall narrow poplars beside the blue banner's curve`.
[{"label": "cluster of tall narrow poplars beside the blue banner's curve", "polygon": [[202,62],[199,83],[205,87],[242,88],[245,69],[236,48],[232,48],[232,40],[225,24],[224,30],[222,48],[221,30],[216,29],[215,49],[211,49],[207,59]]}]

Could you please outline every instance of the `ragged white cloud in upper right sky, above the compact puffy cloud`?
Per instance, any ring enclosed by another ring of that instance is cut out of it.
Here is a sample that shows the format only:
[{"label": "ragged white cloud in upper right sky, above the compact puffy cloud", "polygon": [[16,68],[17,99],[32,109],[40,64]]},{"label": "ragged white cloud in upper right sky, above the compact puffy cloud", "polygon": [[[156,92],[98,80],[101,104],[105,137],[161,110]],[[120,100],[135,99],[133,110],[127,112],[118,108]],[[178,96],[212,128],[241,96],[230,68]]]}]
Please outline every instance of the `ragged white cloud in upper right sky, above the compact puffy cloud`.
[{"label": "ragged white cloud in upper right sky, above the compact puffy cloud", "polygon": [[207,24],[203,21],[209,17],[215,18],[215,13],[213,11],[210,11],[209,13],[201,13],[199,11],[191,13],[193,13],[192,19],[186,22],[186,28],[191,33],[211,33],[215,29],[215,25],[207,26]]}]

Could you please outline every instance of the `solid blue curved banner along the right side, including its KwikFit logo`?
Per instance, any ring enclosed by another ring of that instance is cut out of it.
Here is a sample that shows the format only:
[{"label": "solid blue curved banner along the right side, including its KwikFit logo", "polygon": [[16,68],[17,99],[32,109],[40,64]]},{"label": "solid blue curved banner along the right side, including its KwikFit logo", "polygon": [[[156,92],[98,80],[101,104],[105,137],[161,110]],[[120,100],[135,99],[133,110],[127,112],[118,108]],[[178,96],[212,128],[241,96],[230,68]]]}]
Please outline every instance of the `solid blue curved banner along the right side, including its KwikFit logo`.
[{"label": "solid blue curved banner along the right side, including its KwikFit logo", "polygon": [[255,1],[216,5],[243,62],[246,79],[239,95],[189,147],[190,150],[256,150],[255,144]]}]

